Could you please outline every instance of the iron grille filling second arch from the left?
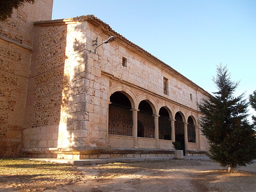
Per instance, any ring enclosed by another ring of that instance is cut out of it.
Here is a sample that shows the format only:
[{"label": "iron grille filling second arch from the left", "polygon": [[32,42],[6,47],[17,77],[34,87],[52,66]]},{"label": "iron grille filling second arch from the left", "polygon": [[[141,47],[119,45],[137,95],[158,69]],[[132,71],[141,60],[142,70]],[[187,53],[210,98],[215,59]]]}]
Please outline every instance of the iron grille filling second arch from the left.
[{"label": "iron grille filling second arch from the left", "polygon": [[155,138],[155,123],[153,113],[140,110],[138,112],[138,137]]}]

